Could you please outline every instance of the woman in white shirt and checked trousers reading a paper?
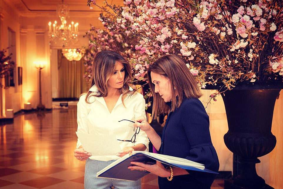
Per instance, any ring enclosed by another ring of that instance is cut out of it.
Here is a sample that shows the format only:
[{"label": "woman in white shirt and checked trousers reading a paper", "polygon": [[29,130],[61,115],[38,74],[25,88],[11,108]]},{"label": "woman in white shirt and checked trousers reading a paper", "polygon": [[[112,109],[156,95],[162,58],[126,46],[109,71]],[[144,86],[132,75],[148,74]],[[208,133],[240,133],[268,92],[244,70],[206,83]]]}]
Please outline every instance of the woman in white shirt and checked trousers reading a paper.
[{"label": "woman in white shirt and checked trousers reading a paper", "polygon": [[97,172],[119,157],[134,150],[148,151],[147,135],[135,128],[132,121],[137,117],[146,120],[145,100],[130,81],[130,65],[120,54],[113,51],[96,54],[89,92],[81,95],[77,104],[77,131],[106,136],[114,134],[122,150],[116,155],[96,156],[86,152],[78,139],[74,156],[80,161],[86,160],[84,188],[141,188],[141,180],[96,178]]}]

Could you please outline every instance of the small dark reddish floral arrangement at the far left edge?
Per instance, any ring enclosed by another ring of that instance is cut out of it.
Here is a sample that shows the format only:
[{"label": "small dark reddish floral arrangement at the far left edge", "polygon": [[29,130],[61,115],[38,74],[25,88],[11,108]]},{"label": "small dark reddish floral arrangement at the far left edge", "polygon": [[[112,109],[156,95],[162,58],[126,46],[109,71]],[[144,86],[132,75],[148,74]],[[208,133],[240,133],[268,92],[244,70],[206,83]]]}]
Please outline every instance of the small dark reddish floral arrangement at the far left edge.
[{"label": "small dark reddish floral arrangement at the far left edge", "polygon": [[[9,47],[0,51],[0,78],[3,78],[14,69],[14,61],[10,61],[12,54],[8,56],[5,55],[8,49]],[[0,87],[3,86],[4,85],[0,82]]]}]

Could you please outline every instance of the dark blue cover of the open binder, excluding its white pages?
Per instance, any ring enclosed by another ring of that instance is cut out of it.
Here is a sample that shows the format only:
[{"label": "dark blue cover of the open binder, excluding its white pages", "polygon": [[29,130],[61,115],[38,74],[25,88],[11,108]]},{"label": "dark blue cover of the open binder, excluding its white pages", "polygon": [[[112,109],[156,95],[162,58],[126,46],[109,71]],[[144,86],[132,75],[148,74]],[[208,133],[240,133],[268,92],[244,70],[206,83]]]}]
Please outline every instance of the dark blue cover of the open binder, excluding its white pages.
[{"label": "dark blue cover of the open binder, excluding its white pages", "polygon": [[[196,168],[196,167],[193,167],[193,166],[179,165],[179,164],[176,164],[176,163],[169,163],[169,162],[159,160],[158,158],[150,157],[150,156],[145,155],[143,153],[136,153],[136,154],[133,154],[130,157],[126,158],[125,160],[119,162],[118,164],[112,166],[112,167],[111,167],[111,164],[110,164],[109,169],[99,171],[96,176],[97,177],[103,177],[103,178],[121,179],[121,180],[139,180],[140,178],[149,174],[149,172],[148,171],[140,171],[140,170],[132,170],[131,171],[130,169],[128,169],[129,166],[133,165],[130,162],[136,161],[136,162],[142,162],[142,163],[153,165],[153,164],[156,164],[156,160],[163,163],[163,164],[171,165],[171,166],[182,168],[182,169],[218,174],[217,172],[214,172],[212,170],[208,170],[208,169],[202,170],[202,169],[199,169],[199,168]],[[115,164],[115,162],[112,163],[112,164]]]}]

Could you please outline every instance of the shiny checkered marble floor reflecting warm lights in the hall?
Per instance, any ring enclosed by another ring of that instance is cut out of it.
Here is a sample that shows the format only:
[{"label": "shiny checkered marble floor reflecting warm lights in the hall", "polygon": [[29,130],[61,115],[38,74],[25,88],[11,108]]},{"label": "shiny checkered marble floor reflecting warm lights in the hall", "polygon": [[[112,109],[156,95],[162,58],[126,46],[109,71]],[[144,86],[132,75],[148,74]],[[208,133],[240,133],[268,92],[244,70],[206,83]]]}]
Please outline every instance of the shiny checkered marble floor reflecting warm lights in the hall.
[{"label": "shiny checkered marble floor reflecting warm lights in the hall", "polygon": [[[85,163],[73,156],[76,127],[76,106],[19,114],[0,126],[0,189],[84,188]],[[142,178],[142,188],[158,188],[157,176]]]}]

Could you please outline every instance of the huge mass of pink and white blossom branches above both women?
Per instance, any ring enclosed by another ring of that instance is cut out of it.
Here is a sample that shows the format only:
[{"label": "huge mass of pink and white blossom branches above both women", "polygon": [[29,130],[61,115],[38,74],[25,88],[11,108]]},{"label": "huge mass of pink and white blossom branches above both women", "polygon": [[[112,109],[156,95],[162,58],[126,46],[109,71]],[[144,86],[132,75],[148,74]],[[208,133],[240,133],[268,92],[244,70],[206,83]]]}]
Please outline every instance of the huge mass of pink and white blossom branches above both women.
[{"label": "huge mass of pink and white blossom branches above both women", "polygon": [[[94,0],[87,4],[98,6]],[[137,82],[147,78],[154,59],[177,54],[203,89],[282,82],[281,0],[125,0],[124,6],[105,1],[100,8],[104,29],[87,32],[87,65],[99,50],[118,51],[129,59]]]}]

